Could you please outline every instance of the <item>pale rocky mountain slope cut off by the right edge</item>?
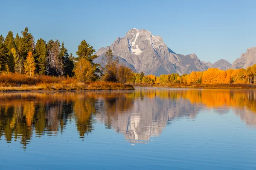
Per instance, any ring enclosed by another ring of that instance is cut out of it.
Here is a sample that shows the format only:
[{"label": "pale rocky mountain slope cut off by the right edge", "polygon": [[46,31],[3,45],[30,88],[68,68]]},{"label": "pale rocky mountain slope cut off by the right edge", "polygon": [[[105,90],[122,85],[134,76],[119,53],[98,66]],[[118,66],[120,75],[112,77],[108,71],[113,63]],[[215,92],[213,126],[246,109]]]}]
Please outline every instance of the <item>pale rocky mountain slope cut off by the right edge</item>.
[{"label": "pale rocky mountain slope cut off by the right edge", "polygon": [[237,58],[230,68],[244,68],[256,64],[256,47],[248,48],[246,53],[241,54],[240,58]]}]

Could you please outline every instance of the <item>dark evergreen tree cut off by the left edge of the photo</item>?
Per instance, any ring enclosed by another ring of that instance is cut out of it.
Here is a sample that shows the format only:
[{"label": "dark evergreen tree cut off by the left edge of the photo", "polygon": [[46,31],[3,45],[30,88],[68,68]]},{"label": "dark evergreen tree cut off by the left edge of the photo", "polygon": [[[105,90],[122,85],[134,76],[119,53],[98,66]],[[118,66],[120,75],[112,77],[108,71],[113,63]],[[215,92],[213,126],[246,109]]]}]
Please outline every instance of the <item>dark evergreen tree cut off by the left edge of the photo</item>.
[{"label": "dark evergreen tree cut off by the left edge of the photo", "polygon": [[0,72],[8,71],[8,49],[4,43],[3,35],[0,35]]}]

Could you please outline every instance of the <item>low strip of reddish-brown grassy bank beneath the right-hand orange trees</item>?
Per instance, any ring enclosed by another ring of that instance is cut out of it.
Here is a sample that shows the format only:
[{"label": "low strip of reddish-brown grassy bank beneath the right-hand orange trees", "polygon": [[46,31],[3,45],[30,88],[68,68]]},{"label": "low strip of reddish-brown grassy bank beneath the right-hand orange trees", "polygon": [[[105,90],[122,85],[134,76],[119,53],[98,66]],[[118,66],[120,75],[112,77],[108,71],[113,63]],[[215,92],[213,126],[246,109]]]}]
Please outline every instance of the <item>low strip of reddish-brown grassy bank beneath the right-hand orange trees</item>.
[{"label": "low strip of reddish-brown grassy bank beneath the right-hand orange trees", "polygon": [[148,83],[136,83],[129,84],[134,87],[165,87],[165,88],[221,88],[221,89],[256,89],[256,84],[180,84],[180,83],[168,83],[168,84],[148,84]]}]

